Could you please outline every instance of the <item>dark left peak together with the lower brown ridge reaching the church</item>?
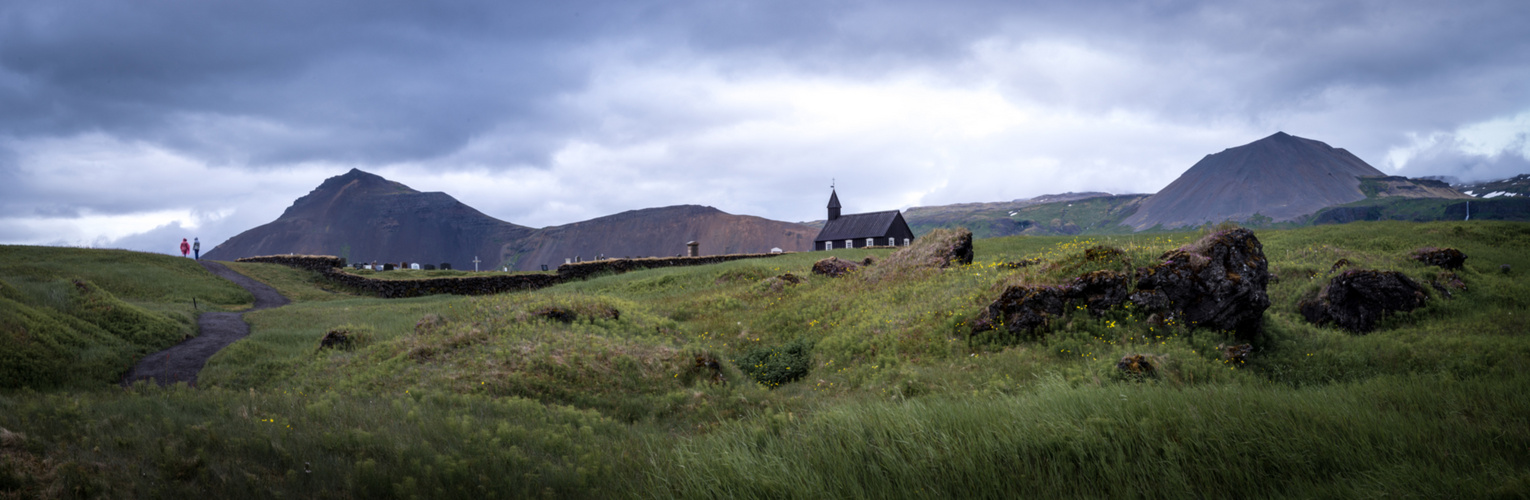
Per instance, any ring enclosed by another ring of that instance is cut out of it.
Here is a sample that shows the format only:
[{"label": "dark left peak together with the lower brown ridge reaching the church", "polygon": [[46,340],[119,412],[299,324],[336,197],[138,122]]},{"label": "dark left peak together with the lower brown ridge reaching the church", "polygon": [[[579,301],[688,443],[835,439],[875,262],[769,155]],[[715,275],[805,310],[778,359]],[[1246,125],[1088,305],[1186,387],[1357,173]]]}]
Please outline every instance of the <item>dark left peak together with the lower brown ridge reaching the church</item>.
[{"label": "dark left peak together with the lower brown ridge reaching the church", "polygon": [[240,232],[205,255],[340,255],[350,261],[451,263],[456,269],[555,268],[565,258],[811,251],[817,229],[711,206],[626,211],[552,228],[503,222],[445,193],[419,193],[361,170],[326,179],[282,217]]}]

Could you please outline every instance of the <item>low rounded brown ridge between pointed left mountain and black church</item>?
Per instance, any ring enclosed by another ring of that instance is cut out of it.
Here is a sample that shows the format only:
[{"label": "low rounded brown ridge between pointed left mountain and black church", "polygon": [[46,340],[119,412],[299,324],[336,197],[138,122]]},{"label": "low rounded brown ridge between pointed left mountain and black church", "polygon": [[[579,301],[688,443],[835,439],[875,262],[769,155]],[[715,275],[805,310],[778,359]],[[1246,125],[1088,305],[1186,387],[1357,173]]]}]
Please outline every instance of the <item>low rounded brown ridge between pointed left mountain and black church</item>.
[{"label": "low rounded brown ridge between pointed left mountain and black church", "polygon": [[514,269],[557,268],[565,258],[656,257],[685,252],[698,242],[702,255],[812,251],[819,229],[754,216],[734,216],[711,206],[676,205],[624,211],[615,216],[543,228],[506,245],[502,261]]}]

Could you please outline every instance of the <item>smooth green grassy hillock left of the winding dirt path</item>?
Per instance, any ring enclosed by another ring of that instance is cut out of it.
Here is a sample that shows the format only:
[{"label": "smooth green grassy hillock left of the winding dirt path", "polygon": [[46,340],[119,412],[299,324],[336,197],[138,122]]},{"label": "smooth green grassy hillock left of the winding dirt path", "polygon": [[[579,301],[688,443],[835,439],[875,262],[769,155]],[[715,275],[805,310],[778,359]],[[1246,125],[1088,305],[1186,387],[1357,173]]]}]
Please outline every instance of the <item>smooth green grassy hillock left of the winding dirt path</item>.
[{"label": "smooth green grassy hillock left of the winding dirt path", "polygon": [[196,335],[200,310],[252,301],[190,258],[0,246],[0,388],[106,387]]}]

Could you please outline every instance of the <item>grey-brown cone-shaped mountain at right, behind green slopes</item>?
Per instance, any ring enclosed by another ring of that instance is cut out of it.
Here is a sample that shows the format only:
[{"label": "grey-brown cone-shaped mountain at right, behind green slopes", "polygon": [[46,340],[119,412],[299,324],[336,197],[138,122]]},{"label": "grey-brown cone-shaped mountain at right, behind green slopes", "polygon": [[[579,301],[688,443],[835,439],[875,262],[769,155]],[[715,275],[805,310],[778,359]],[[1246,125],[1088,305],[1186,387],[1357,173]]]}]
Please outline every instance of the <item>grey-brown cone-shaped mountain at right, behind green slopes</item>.
[{"label": "grey-brown cone-shaped mountain at right, behind green slopes", "polygon": [[1143,200],[1125,223],[1141,231],[1248,220],[1255,214],[1297,220],[1323,206],[1365,199],[1360,177],[1385,176],[1349,151],[1278,131],[1207,154]]}]

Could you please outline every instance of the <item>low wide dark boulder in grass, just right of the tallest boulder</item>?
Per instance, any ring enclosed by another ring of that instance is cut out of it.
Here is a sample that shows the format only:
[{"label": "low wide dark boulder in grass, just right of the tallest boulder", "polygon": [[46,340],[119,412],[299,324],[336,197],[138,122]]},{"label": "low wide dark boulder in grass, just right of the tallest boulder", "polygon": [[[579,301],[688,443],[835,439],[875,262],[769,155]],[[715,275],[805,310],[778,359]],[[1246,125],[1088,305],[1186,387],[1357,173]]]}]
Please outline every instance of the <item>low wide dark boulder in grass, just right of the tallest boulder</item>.
[{"label": "low wide dark boulder in grass, just right of the tallest boulder", "polygon": [[1345,271],[1328,281],[1314,298],[1297,307],[1313,324],[1334,324],[1354,333],[1375,329],[1375,323],[1395,310],[1424,306],[1424,289],[1397,271]]}]

